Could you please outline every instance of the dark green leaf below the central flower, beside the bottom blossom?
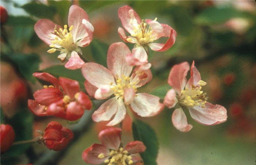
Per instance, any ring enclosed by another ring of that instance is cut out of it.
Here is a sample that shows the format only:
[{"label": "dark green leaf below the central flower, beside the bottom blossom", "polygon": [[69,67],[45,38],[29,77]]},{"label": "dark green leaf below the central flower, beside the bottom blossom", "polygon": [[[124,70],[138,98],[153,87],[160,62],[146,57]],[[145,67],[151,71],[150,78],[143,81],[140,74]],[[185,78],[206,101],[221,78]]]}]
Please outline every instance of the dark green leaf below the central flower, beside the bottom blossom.
[{"label": "dark green leaf below the central flower, beside the bottom blossom", "polygon": [[147,148],[143,153],[140,153],[144,164],[157,165],[159,143],[155,131],[148,124],[134,119],[132,122],[132,134],[134,140],[142,141]]}]

